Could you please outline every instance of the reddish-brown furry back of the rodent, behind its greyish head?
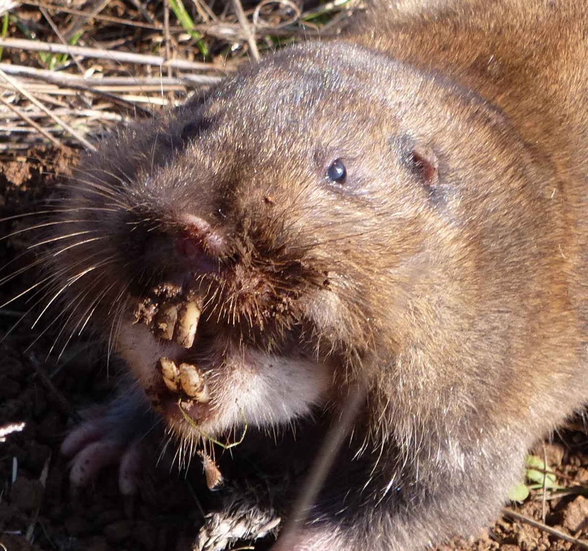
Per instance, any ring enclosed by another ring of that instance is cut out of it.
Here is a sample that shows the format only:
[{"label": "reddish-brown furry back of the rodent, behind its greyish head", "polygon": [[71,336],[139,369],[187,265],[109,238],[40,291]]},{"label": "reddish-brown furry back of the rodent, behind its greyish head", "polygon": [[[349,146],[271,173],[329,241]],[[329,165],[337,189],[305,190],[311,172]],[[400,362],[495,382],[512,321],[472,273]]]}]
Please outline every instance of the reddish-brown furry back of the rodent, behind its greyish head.
[{"label": "reddish-brown furry back of the rodent, behind its greyish head", "polygon": [[476,92],[509,123],[539,167],[533,185],[550,199],[545,231],[557,236],[557,269],[580,321],[588,320],[587,29],[582,0],[404,0],[372,2],[347,31],[354,43]]}]

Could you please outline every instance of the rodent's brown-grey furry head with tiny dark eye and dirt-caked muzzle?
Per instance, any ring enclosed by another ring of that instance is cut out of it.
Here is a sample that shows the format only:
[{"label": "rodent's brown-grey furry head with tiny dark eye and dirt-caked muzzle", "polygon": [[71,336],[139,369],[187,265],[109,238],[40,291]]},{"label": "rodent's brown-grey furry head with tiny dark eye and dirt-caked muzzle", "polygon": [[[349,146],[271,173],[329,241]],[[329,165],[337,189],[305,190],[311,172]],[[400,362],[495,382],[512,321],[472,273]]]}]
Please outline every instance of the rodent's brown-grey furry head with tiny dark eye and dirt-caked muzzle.
[{"label": "rodent's brown-grey furry head with tiny dark eye and dirt-caked muzzle", "polygon": [[[349,380],[366,355],[390,361],[415,293],[427,293],[419,285],[441,275],[435,258],[461,254],[440,244],[468,231],[491,191],[490,166],[467,152],[499,133],[467,125],[493,115],[462,109],[479,100],[449,92],[379,53],[307,43],[120,131],[89,155],[69,193],[78,211],[62,214],[54,277],[71,321],[97,318],[108,334],[171,281],[202,299],[189,352],[217,379],[222,367],[239,371],[227,360],[239,354],[303,358],[326,366],[305,371],[311,387],[323,381],[312,402],[328,394],[333,370]],[[500,163],[494,177],[509,170]],[[479,186],[459,189],[458,173]]]}]

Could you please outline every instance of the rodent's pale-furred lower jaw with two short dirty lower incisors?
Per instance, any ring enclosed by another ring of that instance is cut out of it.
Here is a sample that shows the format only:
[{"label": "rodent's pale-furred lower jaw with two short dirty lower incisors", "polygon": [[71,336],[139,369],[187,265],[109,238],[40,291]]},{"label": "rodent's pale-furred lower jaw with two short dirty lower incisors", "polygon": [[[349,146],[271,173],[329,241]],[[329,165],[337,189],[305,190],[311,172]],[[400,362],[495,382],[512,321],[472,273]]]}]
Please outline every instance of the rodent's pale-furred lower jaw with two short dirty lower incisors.
[{"label": "rodent's pale-furred lower jaw with two short dirty lower incisors", "polygon": [[210,320],[196,325],[190,347],[131,319],[118,335],[119,354],[177,434],[216,438],[239,426],[288,423],[328,398],[333,362],[305,351],[294,333],[277,350]]}]

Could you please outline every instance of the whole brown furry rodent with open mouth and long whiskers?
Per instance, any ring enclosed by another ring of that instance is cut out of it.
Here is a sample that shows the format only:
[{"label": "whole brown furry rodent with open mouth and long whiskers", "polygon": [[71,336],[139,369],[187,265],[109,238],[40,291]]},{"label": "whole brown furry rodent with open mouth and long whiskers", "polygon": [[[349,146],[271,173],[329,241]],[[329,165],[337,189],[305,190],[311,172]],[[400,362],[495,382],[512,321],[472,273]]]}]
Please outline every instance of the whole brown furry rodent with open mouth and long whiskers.
[{"label": "whole brown furry rodent with open mouth and long whiskers", "polygon": [[[586,402],[586,23],[579,0],[377,1],[86,156],[51,296],[126,361],[133,411],[192,449],[366,389],[288,551],[472,535]],[[170,281],[191,348],[133,319]],[[161,357],[202,371],[192,423]]]}]

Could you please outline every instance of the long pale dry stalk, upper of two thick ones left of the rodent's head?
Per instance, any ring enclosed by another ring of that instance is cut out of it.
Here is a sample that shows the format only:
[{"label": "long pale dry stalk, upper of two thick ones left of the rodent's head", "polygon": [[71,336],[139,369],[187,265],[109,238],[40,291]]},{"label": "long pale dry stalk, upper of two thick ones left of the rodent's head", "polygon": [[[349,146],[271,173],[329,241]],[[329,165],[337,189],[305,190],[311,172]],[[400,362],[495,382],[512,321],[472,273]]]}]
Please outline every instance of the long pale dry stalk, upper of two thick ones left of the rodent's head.
[{"label": "long pale dry stalk, upper of two thick ones left of the rodent's head", "polygon": [[119,52],[115,50],[105,50],[102,48],[85,48],[84,46],[68,46],[68,48],[64,48],[64,46],[61,44],[26,40],[24,38],[0,38],[0,48],[16,48],[19,50],[34,50],[38,52],[69,53],[69,55],[81,55],[85,58],[110,59],[111,61],[140,63],[142,65],[161,65],[163,67],[169,66],[175,69],[186,70],[214,69],[220,73],[224,72],[223,69],[212,65],[212,63],[186,61],[185,59],[166,59],[161,55]]}]

